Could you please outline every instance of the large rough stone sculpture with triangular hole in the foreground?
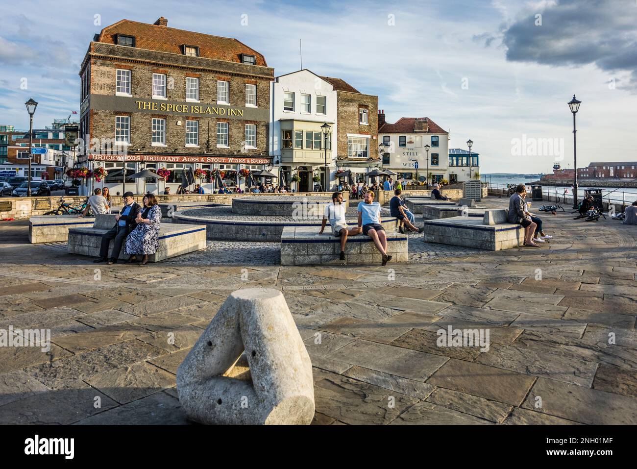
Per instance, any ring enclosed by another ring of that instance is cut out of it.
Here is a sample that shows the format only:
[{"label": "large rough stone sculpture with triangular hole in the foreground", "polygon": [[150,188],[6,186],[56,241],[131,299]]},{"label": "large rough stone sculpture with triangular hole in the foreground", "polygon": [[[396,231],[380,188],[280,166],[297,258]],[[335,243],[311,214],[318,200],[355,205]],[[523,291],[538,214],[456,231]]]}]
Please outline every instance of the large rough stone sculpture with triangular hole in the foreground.
[{"label": "large rough stone sculpture with triangular hole in the foreground", "polygon": [[[233,372],[240,357],[249,373]],[[228,296],[180,364],[177,391],[197,422],[309,424],[312,364],[282,292],[252,288]]]}]

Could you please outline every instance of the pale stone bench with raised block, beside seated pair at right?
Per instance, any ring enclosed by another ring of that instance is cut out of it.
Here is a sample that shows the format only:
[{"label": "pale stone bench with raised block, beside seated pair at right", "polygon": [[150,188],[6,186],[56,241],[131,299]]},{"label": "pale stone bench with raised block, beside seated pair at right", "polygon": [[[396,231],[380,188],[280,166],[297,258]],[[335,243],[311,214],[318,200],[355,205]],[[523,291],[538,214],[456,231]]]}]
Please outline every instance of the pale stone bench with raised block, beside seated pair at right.
[{"label": "pale stone bench with raised block, beside seated pair at right", "polygon": [[478,217],[451,217],[424,221],[426,242],[473,247],[486,250],[503,250],[519,247],[524,243],[524,228],[508,223],[506,210],[485,210]]}]

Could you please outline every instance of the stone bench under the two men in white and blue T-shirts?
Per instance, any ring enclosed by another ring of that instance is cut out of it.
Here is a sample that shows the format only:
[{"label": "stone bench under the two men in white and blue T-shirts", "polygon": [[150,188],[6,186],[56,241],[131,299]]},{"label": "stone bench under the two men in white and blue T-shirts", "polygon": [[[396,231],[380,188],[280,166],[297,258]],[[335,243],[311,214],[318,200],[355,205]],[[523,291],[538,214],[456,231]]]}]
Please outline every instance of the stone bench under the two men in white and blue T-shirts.
[{"label": "stone bench under the two men in white and blue T-shirts", "polygon": [[[407,262],[407,236],[392,231],[387,233],[387,254],[394,256],[394,262]],[[339,259],[341,238],[329,233],[329,226],[322,235],[315,227],[286,227],[281,236],[281,265],[318,264],[378,264],[382,261],[380,252],[369,236],[362,233],[349,236],[345,245],[345,261]]]}]

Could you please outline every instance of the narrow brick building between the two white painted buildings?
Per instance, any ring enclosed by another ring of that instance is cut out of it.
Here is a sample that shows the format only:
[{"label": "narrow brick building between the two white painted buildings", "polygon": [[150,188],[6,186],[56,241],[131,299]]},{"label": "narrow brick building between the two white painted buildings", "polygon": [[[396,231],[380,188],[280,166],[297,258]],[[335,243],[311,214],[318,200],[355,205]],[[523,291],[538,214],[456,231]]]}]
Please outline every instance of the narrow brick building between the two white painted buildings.
[{"label": "narrow brick building between the two white painted buildings", "polygon": [[352,171],[356,181],[378,168],[378,96],[362,94],[340,78],[322,77],[336,90],[338,170]]}]

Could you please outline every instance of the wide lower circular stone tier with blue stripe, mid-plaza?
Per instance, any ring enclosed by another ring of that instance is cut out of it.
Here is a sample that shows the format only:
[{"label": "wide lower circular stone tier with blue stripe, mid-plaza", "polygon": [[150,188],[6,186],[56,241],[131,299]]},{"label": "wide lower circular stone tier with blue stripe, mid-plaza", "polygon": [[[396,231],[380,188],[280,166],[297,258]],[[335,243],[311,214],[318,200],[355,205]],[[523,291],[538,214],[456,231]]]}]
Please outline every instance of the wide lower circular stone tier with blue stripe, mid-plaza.
[{"label": "wide lower circular stone tier with blue stripe, mid-plaza", "polygon": [[[381,222],[385,230],[394,231],[396,218],[389,210],[381,208]],[[173,222],[206,225],[209,240],[280,242],[283,228],[287,226],[313,226],[317,233],[323,219],[323,211],[303,216],[243,215],[233,212],[229,206],[182,210],[173,214]],[[358,213],[355,206],[345,213],[350,227],[357,226]],[[329,222],[326,226],[329,232]]]}]

